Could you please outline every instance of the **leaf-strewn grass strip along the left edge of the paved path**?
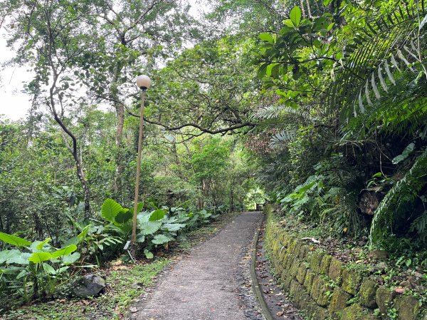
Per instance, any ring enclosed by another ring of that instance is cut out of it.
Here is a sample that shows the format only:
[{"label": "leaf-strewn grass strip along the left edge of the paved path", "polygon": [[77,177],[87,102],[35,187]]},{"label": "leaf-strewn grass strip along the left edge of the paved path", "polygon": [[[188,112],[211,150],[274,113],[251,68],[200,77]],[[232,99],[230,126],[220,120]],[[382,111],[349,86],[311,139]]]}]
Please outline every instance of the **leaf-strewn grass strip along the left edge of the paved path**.
[{"label": "leaf-strewn grass strip along the left edge of the paved path", "polygon": [[233,220],[239,213],[221,215],[209,225],[199,227],[179,237],[169,252],[158,252],[163,257],[137,264],[120,264],[96,272],[107,282],[105,292],[88,299],[56,299],[46,303],[34,303],[8,311],[1,320],[116,320],[125,311],[132,299],[141,296],[151,287],[154,277],[172,260],[188,252],[191,247],[212,237],[218,229]]}]

